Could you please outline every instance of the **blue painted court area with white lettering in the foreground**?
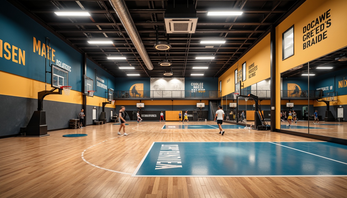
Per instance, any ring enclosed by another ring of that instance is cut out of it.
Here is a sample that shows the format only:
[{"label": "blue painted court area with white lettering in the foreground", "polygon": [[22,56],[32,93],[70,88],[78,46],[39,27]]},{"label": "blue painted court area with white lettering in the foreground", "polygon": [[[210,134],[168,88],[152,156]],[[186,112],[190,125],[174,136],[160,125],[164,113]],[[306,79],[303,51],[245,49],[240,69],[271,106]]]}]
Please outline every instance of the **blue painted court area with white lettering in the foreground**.
[{"label": "blue painted court area with white lettering in the foreground", "polygon": [[327,142],[154,142],[133,177],[347,176],[347,146]]}]

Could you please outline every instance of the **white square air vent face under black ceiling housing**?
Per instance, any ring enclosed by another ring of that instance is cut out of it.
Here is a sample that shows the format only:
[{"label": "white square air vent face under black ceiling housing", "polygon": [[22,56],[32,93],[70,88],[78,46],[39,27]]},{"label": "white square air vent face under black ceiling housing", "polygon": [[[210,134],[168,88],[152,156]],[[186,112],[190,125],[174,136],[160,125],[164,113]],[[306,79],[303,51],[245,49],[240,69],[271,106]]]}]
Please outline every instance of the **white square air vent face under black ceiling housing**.
[{"label": "white square air vent face under black ceiling housing", "polygon": [[166,33],[195,33],[197,18],[164,18]]}]

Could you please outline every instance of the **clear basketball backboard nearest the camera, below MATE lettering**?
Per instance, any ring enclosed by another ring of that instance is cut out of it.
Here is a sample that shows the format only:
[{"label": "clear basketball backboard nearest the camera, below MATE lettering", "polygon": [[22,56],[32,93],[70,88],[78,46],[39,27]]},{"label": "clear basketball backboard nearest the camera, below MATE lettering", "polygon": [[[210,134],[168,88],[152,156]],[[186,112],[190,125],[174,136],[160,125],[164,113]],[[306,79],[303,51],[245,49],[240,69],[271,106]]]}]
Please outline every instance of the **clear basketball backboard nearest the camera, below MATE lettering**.
[{"label": "clear basketball backboard nearest the camera, below MATE lettering", "polygon": [[51,87],[62,89],[62,86],[68,86],[68,71],[52,64]]}]

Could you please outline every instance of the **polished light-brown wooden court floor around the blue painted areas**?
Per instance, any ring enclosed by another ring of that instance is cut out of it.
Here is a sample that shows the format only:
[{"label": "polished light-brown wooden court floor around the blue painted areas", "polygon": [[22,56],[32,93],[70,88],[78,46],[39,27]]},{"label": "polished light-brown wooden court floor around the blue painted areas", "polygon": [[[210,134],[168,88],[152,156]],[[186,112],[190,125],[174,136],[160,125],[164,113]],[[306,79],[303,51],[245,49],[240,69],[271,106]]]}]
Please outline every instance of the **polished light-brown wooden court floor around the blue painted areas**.
[{"label": "polished light-brown wooden court floor around the blue painted areas", "polygon": [[[128,136],[117,135],[119,125],[107,123],[41,138],[0,139],[0,197],[347,197],[347,177],[131,177],[154,141],[317,140],[270,131],[228,129],[221,136],[218,129],[127,123]],[[62,137],[78,133],[88,136]]]}]

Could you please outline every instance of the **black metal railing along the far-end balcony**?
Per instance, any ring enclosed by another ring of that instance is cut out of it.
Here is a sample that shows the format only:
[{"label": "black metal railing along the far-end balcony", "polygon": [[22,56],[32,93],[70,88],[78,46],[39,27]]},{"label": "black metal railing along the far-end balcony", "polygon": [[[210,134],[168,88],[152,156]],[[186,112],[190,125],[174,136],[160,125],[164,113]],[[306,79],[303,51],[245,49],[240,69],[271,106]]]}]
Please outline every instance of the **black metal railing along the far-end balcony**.
[{"label": "black metal railing along the far-end balcony", "polygon": [[113,98],[220,98],[220,91],[113,91]]}]

